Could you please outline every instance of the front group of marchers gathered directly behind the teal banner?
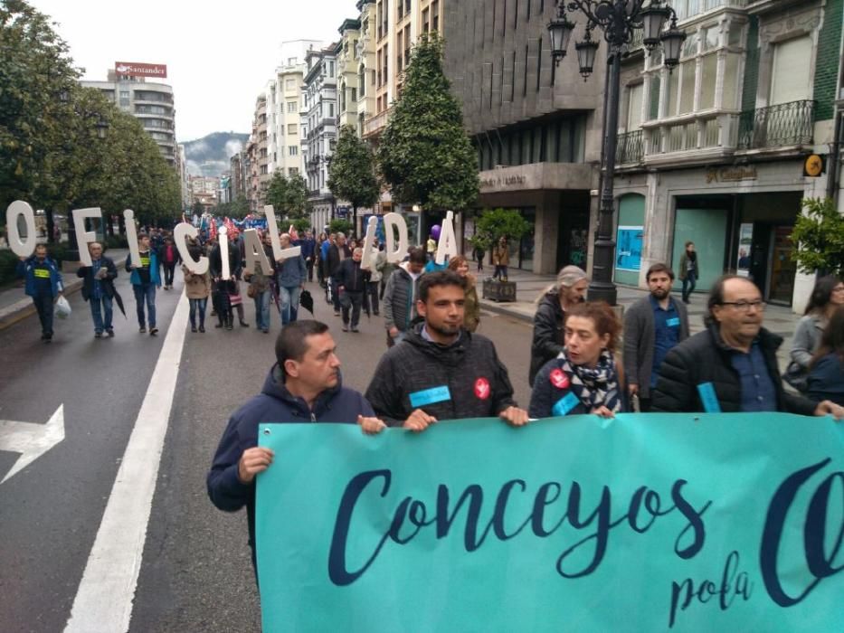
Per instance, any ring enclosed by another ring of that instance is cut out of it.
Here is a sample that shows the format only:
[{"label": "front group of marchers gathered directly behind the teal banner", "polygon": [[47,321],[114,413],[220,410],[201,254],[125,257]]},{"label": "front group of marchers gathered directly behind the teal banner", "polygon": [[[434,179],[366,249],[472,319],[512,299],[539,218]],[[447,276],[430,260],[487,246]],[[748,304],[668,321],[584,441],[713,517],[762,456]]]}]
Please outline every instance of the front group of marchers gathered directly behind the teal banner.
[{"label": "front group of marchers gathered directly behind the teal banner", "polygon": [[[335,307],[343,308],[345,288],[351,284],[353,292],[364,293],[373,282],[368,271],[354,282],[347,271],[337,273],[337,260],[357,262],[359,253],[345,236],[327,241],[328,297],[339,295]],[[421,432],[438,420],[498,417],[522,427],[541,418],[612,418],[629,411],[788,411],[844,419],[839,279],[819,280],[799,326],[818,324],[820,335],[811,349],[795,350],[808,353],[806,388],[796,393],[783,387],[776,360],[782,338],[763,327],[765,305],[750,279],[718,279],[707,298],[706,330],[689,336],[688,298],[671,296],[668,266],[648,270],[650,294],[627,311],[623,324],[605,303],[584,300],[589,279],[567,266],[537,300],[525,409],[514,400],[493,342],[472,331],[477,316],[466,326],[474,291],[468,262],[457,258],[448,269],[430,272],[426,267],[432,268],[431,260],[417,248],[389,273],[383,302],[385,312],[388,305],[393,310],[385,316],[388,348],[364,393],[343,386],[326,324],[308,320],[282,328],[261,393],[232,414],[207,477],[214,505],[225,511],[246,506],[253,557],[255,477],[274,458],[257,445],[260,422],[356,422],[375,434],[388,427]],[[347,312],[340,314],[346,325]]]}]

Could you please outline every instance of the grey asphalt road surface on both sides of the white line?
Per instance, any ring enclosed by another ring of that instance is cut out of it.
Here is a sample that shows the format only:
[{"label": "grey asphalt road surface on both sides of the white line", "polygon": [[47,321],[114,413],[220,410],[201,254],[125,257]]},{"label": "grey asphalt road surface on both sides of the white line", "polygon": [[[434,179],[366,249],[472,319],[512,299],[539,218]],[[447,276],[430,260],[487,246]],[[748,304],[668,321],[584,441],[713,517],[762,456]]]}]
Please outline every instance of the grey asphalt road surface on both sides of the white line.
[{"label": "grey asphalt road surface on both sides of the white line", "polygon": [[[138,335],[126,276],[119,289],[130,320],[116,317],[115,339],[93,338],[90,313],[79,295],[71,298],[74,315],[57,326],[52,345],[38,341],[35,316],[0,332],[0,419],[43,423],[64,403],[66,424],[59,445],[0,485],[0,630],[54,631],[67,621],[163,335],[181,298],[180,275],[176,278],[174,291],[158,295],[162,336],[157,338]],[[308,287],[317,299],[316,317],[331,326],[337,340],[344,383],[365,391],[385,349],[383,320],[364,316],[360,334],[343,333],[317,285]],[[253,325],[248,299],[246,316]],[[216,510],[204,482],[229,414],[260,391],[274,362],[280,320],[273,312],[270,335],[254,326],[215,329],[214,320],[209,316],[206,334],[186,334],[132,631],[260,630],[245,513]],[[526,407],[530,326],[485,313],[479,332],[496,343],[517,401]],[[0,452],[0,477],[15,457]]]}]

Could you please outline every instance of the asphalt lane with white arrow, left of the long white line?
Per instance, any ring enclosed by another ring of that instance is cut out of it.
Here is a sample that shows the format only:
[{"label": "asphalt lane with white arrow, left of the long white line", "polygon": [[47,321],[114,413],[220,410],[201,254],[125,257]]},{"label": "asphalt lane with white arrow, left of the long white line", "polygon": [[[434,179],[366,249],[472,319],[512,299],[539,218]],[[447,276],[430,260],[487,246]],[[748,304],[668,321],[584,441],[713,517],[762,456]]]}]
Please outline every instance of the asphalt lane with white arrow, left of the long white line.
[{"label": "asphalt lane with white arrow, left of the long white line", "polygon": [[[43,424],[63,404],[65,437],[0,484],[0,630],[57,631],[68,619],[119,461],[155,367],[162,336],[138,334],[128,275],[118,290],[128,319],[116,337],[93,337],[81,293],[56,320],[52,344],[37,316],[0,332],[0,420]],[[178,288],[159,292],[169,322]],[[0,451],[0,477],[17,456]]]}]

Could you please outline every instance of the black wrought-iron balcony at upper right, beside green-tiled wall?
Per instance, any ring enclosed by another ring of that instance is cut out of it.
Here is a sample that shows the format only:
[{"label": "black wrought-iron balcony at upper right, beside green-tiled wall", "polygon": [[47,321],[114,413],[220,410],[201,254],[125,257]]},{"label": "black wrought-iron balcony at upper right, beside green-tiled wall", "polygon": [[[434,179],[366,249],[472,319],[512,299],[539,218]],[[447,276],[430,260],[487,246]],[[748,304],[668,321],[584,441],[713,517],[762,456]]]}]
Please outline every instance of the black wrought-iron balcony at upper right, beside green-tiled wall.
[{"label": "black wrought-iron balcony at upper right, beside green-tiled wall", "polygon": [[811,145],[814,123],[814,101],[744,110],[738,122],[738,149]]}]

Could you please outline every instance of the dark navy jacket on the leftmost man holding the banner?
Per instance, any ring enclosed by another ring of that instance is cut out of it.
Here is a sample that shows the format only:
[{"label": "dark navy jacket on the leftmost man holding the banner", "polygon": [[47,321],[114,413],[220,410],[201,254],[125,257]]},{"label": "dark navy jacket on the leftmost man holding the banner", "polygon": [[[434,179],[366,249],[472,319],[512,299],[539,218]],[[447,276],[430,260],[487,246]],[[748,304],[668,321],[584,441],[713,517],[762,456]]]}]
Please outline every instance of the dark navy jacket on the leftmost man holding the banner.
[{"label": "dark navy jacket on the leftmost man holding the banner", "polygon": [[369,402],[339,382],[333,389],[319,394],[313,411],[301,398],[294,397],[281,382],[281,369],[273,365],[261,394],[232,413],[223,432],[223,439],[214,455],[206,479],[208,496],[213,505],[226,512],[246,506],[249,522],[249,546],[255,553],[255,482],[243,484],[237,476],[238,462],[244,450],[258,446],[258,425],[261,422],[346,422],[355,424],[358,415],[375,415]]}]

